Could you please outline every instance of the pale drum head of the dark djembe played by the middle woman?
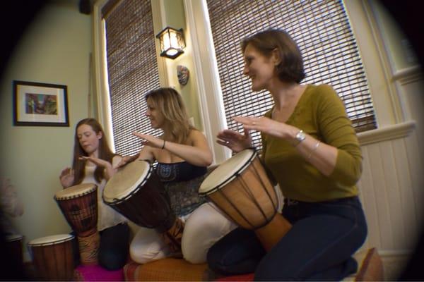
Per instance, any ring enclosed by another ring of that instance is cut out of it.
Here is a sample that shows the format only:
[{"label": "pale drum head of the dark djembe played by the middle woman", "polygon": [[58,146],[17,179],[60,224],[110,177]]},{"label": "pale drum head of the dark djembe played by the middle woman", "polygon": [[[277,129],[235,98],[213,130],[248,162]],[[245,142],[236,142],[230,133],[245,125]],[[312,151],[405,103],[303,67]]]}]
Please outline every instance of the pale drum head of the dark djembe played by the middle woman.
[{"label": "pale drum head of the dark djembe played by the middle woman", "polygon": [[124,199],[146,182],[152,170],[151,164],[143,159],[127,164],[107,181],[103,190],[103,200],[112,203]]}]

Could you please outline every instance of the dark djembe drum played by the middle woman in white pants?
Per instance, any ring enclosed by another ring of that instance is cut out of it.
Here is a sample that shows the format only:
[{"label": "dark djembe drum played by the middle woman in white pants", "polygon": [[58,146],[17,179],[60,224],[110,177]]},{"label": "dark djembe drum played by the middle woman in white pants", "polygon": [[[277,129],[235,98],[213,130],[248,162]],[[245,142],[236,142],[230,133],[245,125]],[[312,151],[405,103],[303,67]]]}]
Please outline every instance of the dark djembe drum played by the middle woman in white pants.
[{"label": "dark djembe drum played by the middle woman in white pants", "polygon": [[184,223],[172,211],[163,183],[148,161],[138,159],[115,173],[102,198],[137,225],[155,228],[174,255],[180,255]]}]

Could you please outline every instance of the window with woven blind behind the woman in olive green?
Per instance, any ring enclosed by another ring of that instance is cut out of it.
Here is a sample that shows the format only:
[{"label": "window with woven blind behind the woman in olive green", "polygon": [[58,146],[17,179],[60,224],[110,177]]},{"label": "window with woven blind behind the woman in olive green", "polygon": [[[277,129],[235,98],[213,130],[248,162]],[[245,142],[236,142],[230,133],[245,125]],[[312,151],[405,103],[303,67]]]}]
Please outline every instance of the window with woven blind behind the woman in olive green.
[{"label": "window with woven blind behind the woman in olive green", "polygon": [[[206,0],[228,128],[242,132],[232,116],[261,116],[271,95],[253,92],[242,74],[241,40],[266,28],[282,28],[302,51],[302,83],[332,85],[357,132],[376,128],[374,108],[355,38],[341,1]],[[259,133],[253,145],[261,149]]]}]

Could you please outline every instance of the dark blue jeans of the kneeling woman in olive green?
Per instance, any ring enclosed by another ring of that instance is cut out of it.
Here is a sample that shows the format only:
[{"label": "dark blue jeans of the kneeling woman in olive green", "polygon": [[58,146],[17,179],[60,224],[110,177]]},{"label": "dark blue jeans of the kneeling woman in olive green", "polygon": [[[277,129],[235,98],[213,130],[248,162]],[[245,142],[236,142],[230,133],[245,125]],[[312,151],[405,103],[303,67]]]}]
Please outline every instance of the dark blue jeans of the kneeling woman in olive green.
[{"label": "dark blue jeans of the kneeling woman in olive green", "polygon": [[293,227],[268,253],[254,231],[236,228],[208,251],[209,267],[224,275],[254,272],[256,281],[340,281],[357,270],[352,255],[367,236],[358,197],[285,201],[282,214]]}]

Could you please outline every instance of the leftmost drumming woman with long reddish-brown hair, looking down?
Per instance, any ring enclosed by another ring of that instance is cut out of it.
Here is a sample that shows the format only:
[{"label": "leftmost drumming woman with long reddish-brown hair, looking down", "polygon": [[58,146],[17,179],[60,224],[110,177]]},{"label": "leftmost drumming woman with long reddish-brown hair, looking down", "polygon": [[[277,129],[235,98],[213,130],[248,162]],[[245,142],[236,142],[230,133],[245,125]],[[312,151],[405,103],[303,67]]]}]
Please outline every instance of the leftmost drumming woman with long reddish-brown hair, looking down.
[{"label": "leftmost drumming woman with long reddish-brown hair, looking down", "polygon": [[122,157],[107,144],[102,126],[94,118],[78,122],[75,129],[72,168],[64,168],[59,176],[63,188],[81,183],[98,185],[98,262],[106,269],[119,269],[128,257],[129,226],[126,218],[102,201],[107,180],[116,172]]}]

